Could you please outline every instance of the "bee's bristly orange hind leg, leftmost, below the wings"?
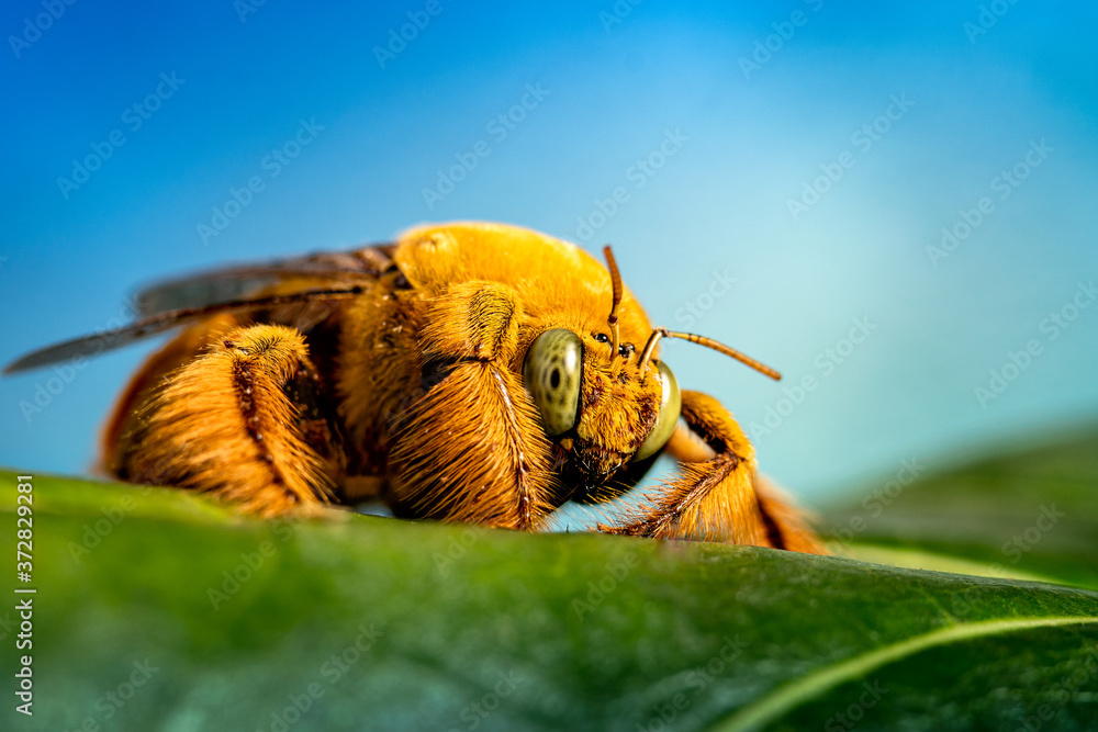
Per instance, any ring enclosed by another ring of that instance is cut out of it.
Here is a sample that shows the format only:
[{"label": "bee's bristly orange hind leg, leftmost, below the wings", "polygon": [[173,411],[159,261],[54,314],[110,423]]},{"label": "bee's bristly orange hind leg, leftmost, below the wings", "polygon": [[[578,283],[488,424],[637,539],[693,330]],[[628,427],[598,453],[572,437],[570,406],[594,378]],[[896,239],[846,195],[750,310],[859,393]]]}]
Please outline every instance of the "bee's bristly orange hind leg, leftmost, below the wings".
[{"label": "bee's bristly orange hind leg, leftmost, below the wings", "polygon": [[329,499],[304,337],[277,325],[225,334],[169,373],[138,406],[116,472],[134,483],[210,493],[264,517]]}]

